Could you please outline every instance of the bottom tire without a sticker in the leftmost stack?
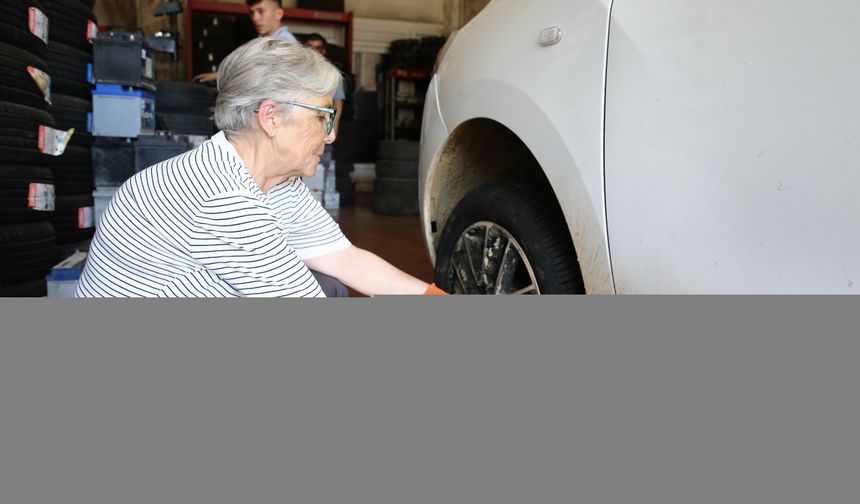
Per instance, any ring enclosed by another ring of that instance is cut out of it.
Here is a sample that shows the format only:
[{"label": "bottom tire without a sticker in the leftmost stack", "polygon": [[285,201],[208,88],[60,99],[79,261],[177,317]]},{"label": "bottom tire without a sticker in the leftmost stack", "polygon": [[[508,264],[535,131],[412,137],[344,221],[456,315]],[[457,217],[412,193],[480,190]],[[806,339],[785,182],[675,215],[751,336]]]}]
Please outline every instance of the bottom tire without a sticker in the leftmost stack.
[{"label": "bottom tire without a sticker in the leftmost stack", "polygon": [[49,222],[0,224],[0,287],[45,276],[56,256],[54,228]]}]

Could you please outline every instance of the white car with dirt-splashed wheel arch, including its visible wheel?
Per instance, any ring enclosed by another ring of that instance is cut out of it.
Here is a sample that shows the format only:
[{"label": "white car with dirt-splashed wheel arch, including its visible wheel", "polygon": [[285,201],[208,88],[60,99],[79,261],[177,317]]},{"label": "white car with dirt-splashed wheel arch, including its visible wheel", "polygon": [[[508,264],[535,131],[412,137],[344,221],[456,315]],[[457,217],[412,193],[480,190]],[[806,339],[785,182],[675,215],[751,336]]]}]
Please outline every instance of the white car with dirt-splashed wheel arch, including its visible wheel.
[{"label": "white car with dirt-splashed wheel arch, including its visible wheel", "polygon": [[425,102],[457,293],[860,290],[860,2],[494,0]]}]

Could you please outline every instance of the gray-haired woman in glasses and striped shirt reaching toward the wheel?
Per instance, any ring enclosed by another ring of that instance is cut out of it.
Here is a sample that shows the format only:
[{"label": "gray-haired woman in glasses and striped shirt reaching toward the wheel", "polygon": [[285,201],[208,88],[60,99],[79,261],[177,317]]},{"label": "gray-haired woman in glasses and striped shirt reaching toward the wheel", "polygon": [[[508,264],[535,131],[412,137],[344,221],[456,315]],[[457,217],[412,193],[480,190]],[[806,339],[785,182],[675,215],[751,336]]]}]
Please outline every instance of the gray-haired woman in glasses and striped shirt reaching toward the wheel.
[{"label": "gray-haired woman in glasses and striped shirt reaching toward the wheel", "polygon": [[441,292],[353,246],[301,181],[334,141],[335,67],[264,37],[218,74],[221,132],[119,188],[78,296],[324,296],[317,279],[332,277],[368,295]]}]

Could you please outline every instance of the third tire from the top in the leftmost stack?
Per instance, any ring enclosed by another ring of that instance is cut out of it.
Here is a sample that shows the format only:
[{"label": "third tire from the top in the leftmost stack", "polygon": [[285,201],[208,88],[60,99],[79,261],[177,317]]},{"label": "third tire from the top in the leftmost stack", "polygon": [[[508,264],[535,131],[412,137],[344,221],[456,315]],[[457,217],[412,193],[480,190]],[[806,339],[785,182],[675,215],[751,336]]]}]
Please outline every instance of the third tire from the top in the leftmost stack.
[{"label": "third tire from the top in the leftmost stack", "polygon": [[6,164],[48,164],[53,156],[39,151],[39,126],[42,124],[54,126],[51,114],[0,102],[0,160]]}]

